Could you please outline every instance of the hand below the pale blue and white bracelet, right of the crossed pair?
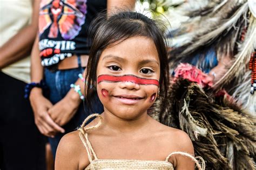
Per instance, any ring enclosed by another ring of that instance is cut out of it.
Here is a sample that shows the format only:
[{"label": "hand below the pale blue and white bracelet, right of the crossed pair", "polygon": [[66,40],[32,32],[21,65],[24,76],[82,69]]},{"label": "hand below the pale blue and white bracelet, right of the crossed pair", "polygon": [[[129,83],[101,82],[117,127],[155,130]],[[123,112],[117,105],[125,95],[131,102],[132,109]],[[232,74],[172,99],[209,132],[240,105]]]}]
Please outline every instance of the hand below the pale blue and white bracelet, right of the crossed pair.
[{"label": "hand below the pale blue and white bracelet, right of the crossed pair", "polygon": [[72,90],[61,101],[53,105],[48,113],[55,123],[63,126],[76,114],[80,102],[79,95],[76,92],[74,94]]}]

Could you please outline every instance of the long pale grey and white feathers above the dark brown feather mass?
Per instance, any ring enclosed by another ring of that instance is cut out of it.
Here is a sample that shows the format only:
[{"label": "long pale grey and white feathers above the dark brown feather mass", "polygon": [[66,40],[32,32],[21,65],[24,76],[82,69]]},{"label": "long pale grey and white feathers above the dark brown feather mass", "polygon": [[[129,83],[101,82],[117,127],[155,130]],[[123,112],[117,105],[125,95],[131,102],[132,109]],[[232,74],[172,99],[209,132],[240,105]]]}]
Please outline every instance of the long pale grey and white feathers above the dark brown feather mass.
[{"label": "long pale grey and white feathers above the dark brown feather mass", "polygon": [[[213,87],[216,91],[226,89],[238,103],[242,103],[244,109],[256,116],[256,94],[239,91],[244,90],[240,87],[242,85],[251,88],[249,83],[245,83],[244,76],[251,73],[248,64],[256,48],[256,18],[250,11],[255,6],[249,6],[251,1],[245,0],[212,0],[208,4],[200,10],[184,12],[183,15],[190,19],[181,23],[179,29],[169,32],[169,42],[174,41],[169,55],[170,68],[176,68],[180,62],[188,62],[207,73],[221,59],[229,58],[230,62],[224,63],[227,71]],[[237,94],[244,95],[239,97]]]}]

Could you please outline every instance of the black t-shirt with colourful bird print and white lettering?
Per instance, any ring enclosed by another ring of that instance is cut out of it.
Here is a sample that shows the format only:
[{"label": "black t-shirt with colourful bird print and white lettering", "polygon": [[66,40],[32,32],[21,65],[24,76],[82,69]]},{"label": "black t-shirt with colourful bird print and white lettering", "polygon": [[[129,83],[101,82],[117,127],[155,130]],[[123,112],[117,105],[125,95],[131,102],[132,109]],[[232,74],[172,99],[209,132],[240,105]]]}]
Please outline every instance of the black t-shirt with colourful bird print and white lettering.
[{"label": "black t-shirt with colourful bird print and white lettering", "polygon": [[89,54],[88,27],[105,9],[106,0],[42,0],[39,12],[42,66],[55,65],[73,54]]}]

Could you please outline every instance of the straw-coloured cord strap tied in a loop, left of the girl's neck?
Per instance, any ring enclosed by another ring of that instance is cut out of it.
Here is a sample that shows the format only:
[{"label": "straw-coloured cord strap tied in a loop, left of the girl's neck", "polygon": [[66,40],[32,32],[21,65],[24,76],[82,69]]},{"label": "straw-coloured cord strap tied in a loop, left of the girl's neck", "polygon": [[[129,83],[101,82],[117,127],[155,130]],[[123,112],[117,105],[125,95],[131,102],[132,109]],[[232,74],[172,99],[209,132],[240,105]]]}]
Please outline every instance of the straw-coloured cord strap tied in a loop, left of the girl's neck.
[{"label": "straw-coloured cord strap tied in a loop, left of the girl's neck", "polygon": [[[95,126],[90,126],[88,128],[84,128],[85,124],[92,118],[92,117],[99,117],[99,122],[97,123],[97,125]],[[84,144],[84,147],[86,148],[87,154],[88,154],[88,158],[90,163],[92,164],[92,156],[94,157],[94,159],[98,159],[97,155],[95,153],[95,151],[92,148],[92,145],[90,143],[90,140],[88,138],[88,133],[87,131],[89,130],[93,130],[93,129],[97,129],[99,128],[99,126],[102,124],[102,117],[99,114],[92,114],[90,116],[88,116],[83,124],[80,126],[79,130],[79,137],[82,140],[82,143]],[[85,139],[85,140],[84,140]]]}]

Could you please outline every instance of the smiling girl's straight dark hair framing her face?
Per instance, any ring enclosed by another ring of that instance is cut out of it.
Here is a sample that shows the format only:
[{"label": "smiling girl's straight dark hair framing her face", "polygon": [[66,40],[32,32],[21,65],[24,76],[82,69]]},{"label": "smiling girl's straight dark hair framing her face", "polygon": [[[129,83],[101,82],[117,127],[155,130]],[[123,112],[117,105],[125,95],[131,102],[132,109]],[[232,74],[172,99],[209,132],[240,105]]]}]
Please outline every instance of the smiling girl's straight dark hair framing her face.
[{"label": "smiling girl's straight dark hair framing her face", "polygon": [[167,47],[163,32],[152,19],[144,16],[142,13],[131,11],[118,12],[108,19],[106,19],[106,15],[100,15],[92,22],[89,32],[92,39],[86,74],[88,87],[86,101],[89,108],[91,108],[93,96],[95,96],[96,92],[96,71],[100,55],[105,48],[135,36],[150,38],[153,40],[154,45],[156,45],[160,60],[160,98],[163,106],[165,105],[169,88]]}]

